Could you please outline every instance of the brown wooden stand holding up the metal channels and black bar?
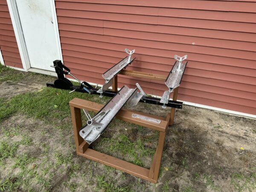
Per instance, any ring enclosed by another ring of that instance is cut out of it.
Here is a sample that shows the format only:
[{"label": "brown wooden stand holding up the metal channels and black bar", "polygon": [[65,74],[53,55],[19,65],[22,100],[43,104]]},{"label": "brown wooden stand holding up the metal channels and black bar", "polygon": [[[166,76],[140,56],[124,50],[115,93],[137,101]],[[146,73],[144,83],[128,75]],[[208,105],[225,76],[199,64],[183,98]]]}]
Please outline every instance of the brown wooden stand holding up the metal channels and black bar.
[{"label": "brown wooden stand holding up the metal channels and black bar", "polygon": [[[142,72],[135,72],[135,71],[128,71],[128,70],[122,70],[120,73],[122,75],[129,75],[129,76],[135,76],[135,77],[143,77],[146,79],[157,79],[157,80],[166,80],[166,76],[159,76],[154,75],[151,73],[142,73]],[[113,90],[117,90],[117,76],[115,77],[113,81]],[[176,88],[174,90],[173,100],[177,100],[177,94],[178,89]],[[76,154],[86,157],[90,160],[95,160],[99,163],[105,164],[107,166],[111,166],[113,168],[119,169],[123,172],[129,173],[131,175],[134,175],[136,177],[143,178],[145,180],[148,180],[152,183],[157,183],[159,171],[160,171],[160,164],[163,154],[163,146],[166,136],[166,130],[169,125],[173,124],[174,116],[175,116],[175,108],[172,108],[171,113],[168,113],[166,118],[160,117],[160,116],[154,116],[146,113],[140,113],[137,111],[131,111],[127,109],[121,109],[117,114],[116,118],[124,120],[126,122],[131,122],[137,125],[141,125],[147,128],[151,128],[157,131],[160,131],[160,136],[158,140],[158,145],[156,152],[154,154],[153,161],[151,163],[150,169],[145,169],[143,167],[134,165],[132,163],[128,163],[124,160],[117,159],[115,157],[111,157],[109,155],[100,153],[98,151],[95,151],[93,149],[88,148],[89,144],[86,143],[82,137],[79,135],[79,131],[82,127],[82,120],[81,120],[81,109],[86,109],[87,111],[94,111],[98,112],[103,108],[104,105],[86,101],[83,99],[74,98],[70,101],[70,110],[71,110],[71,116],[72,116],[72,122],[73,122],[73,131],[74,131],[74,137],[75,137],[75,143],[76,143]],[[133,118],[131,115],[132,113],[141,114],[144,116],[153,117],[156,119],[160,119],[160,124],[155,124],[147,121],[143,121],[141,119]]]}]

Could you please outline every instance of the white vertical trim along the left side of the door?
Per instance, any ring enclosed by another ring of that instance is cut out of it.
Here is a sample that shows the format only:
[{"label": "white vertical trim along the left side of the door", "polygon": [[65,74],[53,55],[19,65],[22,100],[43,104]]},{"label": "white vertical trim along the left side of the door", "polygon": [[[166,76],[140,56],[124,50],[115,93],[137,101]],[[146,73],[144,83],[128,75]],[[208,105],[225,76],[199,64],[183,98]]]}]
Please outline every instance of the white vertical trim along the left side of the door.
[{"label": "white vertical trim along the left side of the door", "polygon": [[20,24],[20,17],[19,17],[17,6],[16,6],[16,0],[7,0],[7,5],[11,15],[12,26],[14,29],[17,45],[19,48],[23,69],[28,70],[30,68],[29,55],[26,49],[25,39],[23,36],[21,24]]}]

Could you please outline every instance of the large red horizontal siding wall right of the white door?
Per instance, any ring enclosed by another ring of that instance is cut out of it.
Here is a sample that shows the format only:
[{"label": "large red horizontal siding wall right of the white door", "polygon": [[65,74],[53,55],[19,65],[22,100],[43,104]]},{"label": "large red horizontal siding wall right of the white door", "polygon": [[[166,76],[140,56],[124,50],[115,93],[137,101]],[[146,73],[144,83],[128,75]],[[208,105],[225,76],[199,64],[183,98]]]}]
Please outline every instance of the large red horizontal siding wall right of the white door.
[{"label": "large red horizontal siding wall right of the white door", "polygon": [[[55,0],[64,63],[86,81],[136,49],[127,69],[167,75],[173,56],[188,55],[178,99],[256,114],[256,3],[253,1]],[[0,31],[0,35],[1,34]],[[6,50],[8,51],[8,50]],[[167,90],[138,82],[149,94]]]}]

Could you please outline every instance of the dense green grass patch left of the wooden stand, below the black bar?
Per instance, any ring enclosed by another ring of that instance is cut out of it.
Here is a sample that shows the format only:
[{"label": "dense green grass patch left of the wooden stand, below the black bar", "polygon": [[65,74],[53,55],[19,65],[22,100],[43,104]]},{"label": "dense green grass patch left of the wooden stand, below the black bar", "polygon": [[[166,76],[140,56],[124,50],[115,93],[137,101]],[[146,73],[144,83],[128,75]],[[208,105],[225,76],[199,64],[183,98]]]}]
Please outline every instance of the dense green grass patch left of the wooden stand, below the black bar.
[{"label": "dense green grass patch left of the wooden stand, below the black bar", "polygon": [[14,96],[9,102],[0,98],[0,122],[19,112],[53,123],[56,119],[61,120],[70,117],[68,103],[75,97],[87,100],[99,99],[96,95],[78,92],[69,93],[67,90],[45,87],[40,92]]}]

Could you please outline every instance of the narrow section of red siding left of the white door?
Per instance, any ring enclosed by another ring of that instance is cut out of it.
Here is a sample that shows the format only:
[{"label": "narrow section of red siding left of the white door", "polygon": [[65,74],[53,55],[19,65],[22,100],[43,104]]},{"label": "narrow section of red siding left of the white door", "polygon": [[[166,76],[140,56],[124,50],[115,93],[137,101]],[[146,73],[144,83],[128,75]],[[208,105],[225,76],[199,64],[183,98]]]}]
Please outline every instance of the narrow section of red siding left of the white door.
[{"label": "narrow section of red siding left of the white door", "polygon": [[6,0],[0,0],[0,49],[5,65],[23,68]]}]

